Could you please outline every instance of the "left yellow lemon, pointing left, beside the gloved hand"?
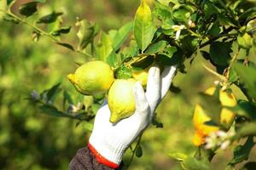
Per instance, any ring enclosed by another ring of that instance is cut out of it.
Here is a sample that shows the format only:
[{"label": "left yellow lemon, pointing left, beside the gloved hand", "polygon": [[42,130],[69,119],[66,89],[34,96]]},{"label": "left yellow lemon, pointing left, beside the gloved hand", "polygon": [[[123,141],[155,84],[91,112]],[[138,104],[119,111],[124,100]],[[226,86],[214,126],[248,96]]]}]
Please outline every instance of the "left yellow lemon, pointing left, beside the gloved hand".
[{"label": "left yellow lemon, pointing left, beside the gloved hand", "polygon": [[85,63],[74,74],[67,75],[67,78],[84,95],[105,93],[114,80],[112,69],[103,61]]}]

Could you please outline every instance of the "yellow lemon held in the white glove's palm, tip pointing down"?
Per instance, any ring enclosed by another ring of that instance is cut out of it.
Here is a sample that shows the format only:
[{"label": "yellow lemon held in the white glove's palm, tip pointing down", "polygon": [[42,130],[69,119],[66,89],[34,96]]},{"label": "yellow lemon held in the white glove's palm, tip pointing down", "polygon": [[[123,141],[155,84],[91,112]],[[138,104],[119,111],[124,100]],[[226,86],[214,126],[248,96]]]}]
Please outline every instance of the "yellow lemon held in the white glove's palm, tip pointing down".
[{"label": "yellow lemon held in the white glove's palm, tip pointing down", "polygon": [[135,98],[133,88],[136,80],[117,79],[113,82],[108,91],[108,106],[111,111],[110,122],[119,122],[119,120],[131,116],[135,111]]}]

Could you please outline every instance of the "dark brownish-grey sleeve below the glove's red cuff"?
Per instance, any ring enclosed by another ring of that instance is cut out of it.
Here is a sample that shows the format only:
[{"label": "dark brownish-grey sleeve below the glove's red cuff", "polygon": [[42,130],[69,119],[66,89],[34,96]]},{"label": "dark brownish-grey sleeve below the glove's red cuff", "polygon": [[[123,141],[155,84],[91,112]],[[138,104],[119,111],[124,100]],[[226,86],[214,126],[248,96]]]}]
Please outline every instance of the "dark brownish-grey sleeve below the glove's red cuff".
[{"label": "dark brownish-grey sleeve below the glove's red cuff", "polygon": [[[122,166],[119,167],[119,169]],[[88,147],[81,148],[77,154],[70,161],[69,170],[113,170],[111,167],[107,167],[98,161],[92,155]]]}]

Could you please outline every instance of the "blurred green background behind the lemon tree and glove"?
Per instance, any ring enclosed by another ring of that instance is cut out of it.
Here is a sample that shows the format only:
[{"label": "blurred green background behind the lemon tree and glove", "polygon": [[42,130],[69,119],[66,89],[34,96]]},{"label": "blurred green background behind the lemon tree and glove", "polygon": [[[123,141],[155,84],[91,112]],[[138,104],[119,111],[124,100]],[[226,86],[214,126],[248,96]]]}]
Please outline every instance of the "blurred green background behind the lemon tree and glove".
[{"label": "blurred green background behind the lemon tree and glove", "polygon": [[[94,21],[108,31],[133,20],[138,5],[138,0],[51,0],[40,7],[39,13],[63,11],[64,24],[73,26],[64,39],[77,42],[74,26],[77,16]],[[55,45],[47,37],[41,37],[38,43],[32,42],[32,29],[25,25],[1,20],[0,28],[0,169],[67,169],[76,151],[87,144],[90,133],[86,124],[82,122],[76,127],[77,121],[41,114],[26,98],[32,90],[42,92],[62,82],[61,88],[78,100],[81,96],[66,76],[77,67],[75,62],[86,59]],[[174,84],[182,91],[167,94],[160,104],[157,116],[164,127],[148,127],[142,139],[143,156],[136,157],[130,169],[181,169],[168,154],[195,152],[191,141],[196,94],[218,80],[203,68],[202,63],[204,59],[196,56],[192,65],[187,61],[187,74],[177,74]],[[233,90],[243,98],[236,88]],[[212,169],[224,169],[231,155],[229,149],[220,150],[212,162]],[[125,161],[130,156],[128,150]],[[255,148],[251,157],[256,157]]]}]

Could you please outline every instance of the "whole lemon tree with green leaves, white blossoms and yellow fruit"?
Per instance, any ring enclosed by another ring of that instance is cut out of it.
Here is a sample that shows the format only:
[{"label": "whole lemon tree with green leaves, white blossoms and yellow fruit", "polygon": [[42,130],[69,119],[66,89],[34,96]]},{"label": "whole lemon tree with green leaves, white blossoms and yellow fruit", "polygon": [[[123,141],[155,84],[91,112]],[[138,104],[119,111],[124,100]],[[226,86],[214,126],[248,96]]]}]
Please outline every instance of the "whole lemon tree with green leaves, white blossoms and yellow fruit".
[{"label": "whole lemon tree with green leaves, white blossoms and yellow fruit", "polygon": [[[134,20],[116,30],[102,31],[98,25],[78,18],[75,24],[78,26],[77,42],[67,42],[64,38],[71,26],[62,22],[62,12],[37,15],[45,2],[32,1],[21,4],[20,14],[16,14],[12,9],[15,3],[1,0],[0,17],[31,26],[34,42],[42,36],[49,37],[63,48],[83,55],[87,61],[100,60],[108,65],[106,69],[103,66],[96,69],[82,63],[74,75],[68,76],[80,93],[93,94],[84,95],[82,104],[73,108],[73,114],[65,108],[60,110],[52,102],[61,90],[60,84],[45,89],[41,94],[33,94],[32,101],[45,114],[92,122],[108,90],[113,110],[119,111],[123,107],[113,96],[129,95],[129,99],[132,98],[130,85],[122,93],[115,92],[119,91],[119,82],[122,87],[126,87],[125,82],[131,78],[145,83],[148,66],[153,63],[161,67],[178,65],[178,71],[186,73],[186,63],[193,64],[196,57],[203,57],[208,64],[204,67],[218,77],[218,85],[197,96],[194,143],[199,147],[193,156],[181,153],[171,156],[180,161],[183,169],[210,169],[218,149],[235,144],[233,157],[226,168],[235,169],[237,164],[247,161],[256,135],[255,1],[142,0]],[[90,73],[94,77],[91,80]],[[245,98],[235,100],[231,86],[238,88]],[[177,88],[172,86],[170,90],[177,91]],[[70,101],[67,93],[63,94],[63,100]],[[131,100],[125,106],[125,116],[134,111]],[[112,122],[118,120],[115,117]],[[246,143],[237,144],[240,139]],[[137,156],[142,156],[143,153],[141,147],[132,152],[133,156],[137,153],[141,153]],[[252,165],[245,164],[244,168]]]}]

